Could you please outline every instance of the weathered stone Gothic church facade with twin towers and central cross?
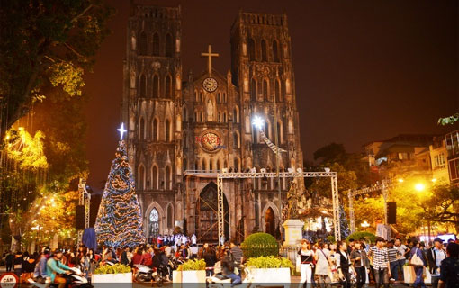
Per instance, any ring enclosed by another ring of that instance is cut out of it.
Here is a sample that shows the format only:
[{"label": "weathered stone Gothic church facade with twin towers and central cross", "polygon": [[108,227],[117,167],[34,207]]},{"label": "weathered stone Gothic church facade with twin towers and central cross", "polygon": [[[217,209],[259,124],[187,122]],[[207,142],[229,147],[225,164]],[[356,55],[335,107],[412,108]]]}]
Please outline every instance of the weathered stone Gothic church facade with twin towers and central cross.
[{"label": "weathered stone Gothic church facade with twin towers and central cross", "polygon": [[[285,14],[239,12],[228,71],[211,66],[218,54],[202,43],[208,68],[184,75],[181,13],[131,7],[121,117],[146,236],[180,226],[199,242],[216,242],[217,171],[302,167],[291,39]],[[285,150],[280,157],[252,125],[255,116]],[[279,236],[289,185],[287,178],[225,180],[225,237]]]}]

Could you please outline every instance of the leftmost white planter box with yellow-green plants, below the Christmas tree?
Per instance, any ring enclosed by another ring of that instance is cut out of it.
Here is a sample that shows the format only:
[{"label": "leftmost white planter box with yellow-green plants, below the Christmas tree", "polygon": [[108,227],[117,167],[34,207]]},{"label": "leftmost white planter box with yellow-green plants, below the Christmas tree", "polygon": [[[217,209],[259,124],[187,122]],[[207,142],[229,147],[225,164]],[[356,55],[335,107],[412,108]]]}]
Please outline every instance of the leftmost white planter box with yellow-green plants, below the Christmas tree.
[{"label": "leftmost white planter box with yellow-green plants, below the Christmas tree", "polygon": [[91,284],[126,284],[124,287],[132,286],[132,269],[130,266],[115,264],[113,266],[103,265],[97,267],[91,277]]}]

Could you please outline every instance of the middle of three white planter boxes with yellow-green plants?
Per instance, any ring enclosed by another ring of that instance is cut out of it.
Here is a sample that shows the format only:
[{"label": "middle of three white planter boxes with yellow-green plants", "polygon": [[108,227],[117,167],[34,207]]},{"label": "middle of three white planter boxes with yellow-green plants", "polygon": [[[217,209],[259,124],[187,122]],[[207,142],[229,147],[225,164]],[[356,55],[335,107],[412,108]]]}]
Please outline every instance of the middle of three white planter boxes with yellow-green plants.
[{"label": "middle of three white planter boxes with yellow-green plants", "polygon": [[186,283],[186,287],[205,287],[205,261],[188,260],[172,272],[174,286]]}]

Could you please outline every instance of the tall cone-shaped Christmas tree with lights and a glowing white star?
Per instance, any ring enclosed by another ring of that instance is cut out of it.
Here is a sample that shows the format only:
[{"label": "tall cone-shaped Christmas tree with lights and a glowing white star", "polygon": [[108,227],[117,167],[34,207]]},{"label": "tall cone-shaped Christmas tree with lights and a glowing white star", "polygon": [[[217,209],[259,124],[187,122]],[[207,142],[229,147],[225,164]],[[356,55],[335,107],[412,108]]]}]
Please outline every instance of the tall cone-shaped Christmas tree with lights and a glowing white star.
[{"label": "tall cone-shaped Christmas tree with lights and a glowing white star", "polygon": [[134,177],[128,162],[126,144],[122,134],[116,149],[97,220],[95,234],[97,242],[108,247],[137,247],[145,243],[139,201],[135,193]]}]

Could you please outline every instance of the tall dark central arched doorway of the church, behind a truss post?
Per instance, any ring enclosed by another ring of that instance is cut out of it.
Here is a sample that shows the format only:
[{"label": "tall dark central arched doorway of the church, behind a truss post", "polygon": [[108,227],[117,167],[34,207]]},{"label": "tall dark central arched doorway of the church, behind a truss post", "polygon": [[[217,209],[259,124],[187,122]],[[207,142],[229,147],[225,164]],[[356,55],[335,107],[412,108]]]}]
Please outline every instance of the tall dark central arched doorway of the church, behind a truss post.
[{"label": "tall dark central arched doorway of the church, behind a truss post", "polygon": [[[219,242],[219,227],[217,219],[218,208],[217,185],[213,182],[202,189],[196,202],[196,236],[199,242]],[[225,238],[229,239],[229,210],[228,202],[223,194],[223,211]]]}]

